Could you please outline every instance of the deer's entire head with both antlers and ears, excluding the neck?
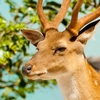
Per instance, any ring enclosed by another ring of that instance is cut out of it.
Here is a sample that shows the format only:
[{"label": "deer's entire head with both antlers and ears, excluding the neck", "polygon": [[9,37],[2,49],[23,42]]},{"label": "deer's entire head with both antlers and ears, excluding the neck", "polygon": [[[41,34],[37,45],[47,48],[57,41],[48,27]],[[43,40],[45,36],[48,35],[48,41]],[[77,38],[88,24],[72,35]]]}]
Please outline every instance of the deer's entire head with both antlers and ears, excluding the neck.
[{"label": "deer's entire head with both antlers and ears, excluding the neck", "polygon": [[59,13],[49,22],[43,12],[42,0],[38,0],[37,12],[45,37],[35,30],[22,30],[23,35],[38,48],[38,52],[22,68],[22,73],[27,78],[56,79],[67,72],[73,73],[79,62],[84,61],[84,46],[93,34],[97,22],[90,24],[87,29],[82,27],[100,16],[100,8],[78,19],[78,12],[83,2],[78,0],[70,24],[63,32],[59,32],[58,25],[63,20],[70,1],[63,0]]}]

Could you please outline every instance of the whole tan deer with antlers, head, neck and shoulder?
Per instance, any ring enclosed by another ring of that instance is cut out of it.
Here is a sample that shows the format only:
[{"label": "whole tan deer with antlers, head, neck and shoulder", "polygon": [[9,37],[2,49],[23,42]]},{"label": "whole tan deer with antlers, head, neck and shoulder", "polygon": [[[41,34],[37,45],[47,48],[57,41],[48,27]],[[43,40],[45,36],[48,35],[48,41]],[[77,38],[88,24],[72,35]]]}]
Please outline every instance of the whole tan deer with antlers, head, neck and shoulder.
[{"label": "whole tan deer with antlers, head, neck and shoulder", "polygon": [[45,36],[37,30],[21,30],[38,49],[22,67],[23,75],[31,80],[56,79],[64,100],[100,100],[100,74],[88,63],[84,53],[84,47],[100,21],[94,21],[100,16],[100,7],[78,18],[83,2],[77,1],[70,24],[60,32],[58,26],[68,12],[71,0],[63,0],[52,21],[46,18],[43,0],[38,0],[37,14]]}]

